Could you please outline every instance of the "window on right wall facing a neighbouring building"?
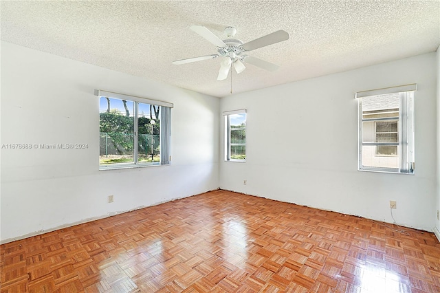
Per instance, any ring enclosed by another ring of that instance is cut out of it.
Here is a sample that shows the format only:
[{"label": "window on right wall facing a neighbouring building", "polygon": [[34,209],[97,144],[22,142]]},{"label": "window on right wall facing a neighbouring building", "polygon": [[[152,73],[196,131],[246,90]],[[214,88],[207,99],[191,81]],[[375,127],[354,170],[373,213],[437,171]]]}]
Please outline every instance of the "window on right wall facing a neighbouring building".
[{"label": "window on right wall facing a neighbouring building", "polygon": [[414,173],[415,89],[406,85],[356,93],[359,170]]}]

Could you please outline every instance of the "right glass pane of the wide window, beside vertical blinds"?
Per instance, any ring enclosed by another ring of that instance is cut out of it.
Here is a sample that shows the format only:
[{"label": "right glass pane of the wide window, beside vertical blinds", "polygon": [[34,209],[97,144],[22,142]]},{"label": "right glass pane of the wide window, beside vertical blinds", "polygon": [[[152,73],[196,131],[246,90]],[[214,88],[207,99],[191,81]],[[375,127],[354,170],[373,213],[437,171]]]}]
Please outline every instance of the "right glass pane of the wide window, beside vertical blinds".
[{"label": "right glass pane of the wide window, beside vertical blinds", "polygon": [[137,103],[137,162],[159,164],[159,106]]}]

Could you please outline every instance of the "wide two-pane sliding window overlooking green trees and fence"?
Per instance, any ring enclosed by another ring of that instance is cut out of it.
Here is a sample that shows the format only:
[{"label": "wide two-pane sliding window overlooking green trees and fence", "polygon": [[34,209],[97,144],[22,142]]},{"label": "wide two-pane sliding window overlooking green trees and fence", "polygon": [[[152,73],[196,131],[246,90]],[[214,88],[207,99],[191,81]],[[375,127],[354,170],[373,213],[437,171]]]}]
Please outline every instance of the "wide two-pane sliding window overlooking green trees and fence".
[{"label": "wide two-pane sliding window overlooking green trees and fence", "polygon": [[170,163],[173,104],[96,90],[100,97],[100,169]]}]

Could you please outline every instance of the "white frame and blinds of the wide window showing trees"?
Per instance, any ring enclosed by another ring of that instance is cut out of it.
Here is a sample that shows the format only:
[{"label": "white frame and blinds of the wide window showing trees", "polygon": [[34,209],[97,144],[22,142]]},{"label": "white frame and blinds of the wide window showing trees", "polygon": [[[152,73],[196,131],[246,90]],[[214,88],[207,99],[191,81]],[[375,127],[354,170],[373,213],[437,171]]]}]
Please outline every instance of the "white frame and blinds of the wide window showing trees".
[{"label": "white frame and blinds of the wide window showing trees", "polygon": [[[134,102],[134,142],[133,142],[133,162],[124,163],[114,163],[114,164],[99,164],[99,170],[113,170],[113,169],[129,169],[129,168],[140,168],[146,166],[164,166],[171,163],[171,109],[173,108],[173,103],[164,102],[159,100],[151,100],[149,98],[142,98],[138,96],[130,96],[126,94],[114,93],[112,91],[103,91],[102,89],[95,89],[95,96],[99,98],[116,98],[119,100],[127,100]],[[137,159],[137,104],[150,104],[155,106],[160,106],[160,130],[159,130],[159,140],[160,140],[160,160],[159,164],[151,164],[145,162],[138,162]]]}]

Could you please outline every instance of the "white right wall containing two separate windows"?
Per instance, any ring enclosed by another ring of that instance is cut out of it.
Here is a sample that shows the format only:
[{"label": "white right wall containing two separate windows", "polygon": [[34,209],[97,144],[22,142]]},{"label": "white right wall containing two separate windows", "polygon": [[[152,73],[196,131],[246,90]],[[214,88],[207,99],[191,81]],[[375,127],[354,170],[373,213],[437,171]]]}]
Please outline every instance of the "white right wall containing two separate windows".
[{"label": "white right wall containing two separate windows", "polygon": [[[387,222],[393,222],[389,201],[395,200],[398,224],[432,230],[435,58],[434,53],[423,54],[223,98],[221,111],[247,109],[248,117],[246,162],[221,161],[220,188]],[[355,92],[408,83],[418,85],[415,175],[357,171]]]}]

